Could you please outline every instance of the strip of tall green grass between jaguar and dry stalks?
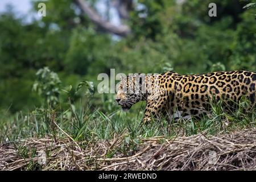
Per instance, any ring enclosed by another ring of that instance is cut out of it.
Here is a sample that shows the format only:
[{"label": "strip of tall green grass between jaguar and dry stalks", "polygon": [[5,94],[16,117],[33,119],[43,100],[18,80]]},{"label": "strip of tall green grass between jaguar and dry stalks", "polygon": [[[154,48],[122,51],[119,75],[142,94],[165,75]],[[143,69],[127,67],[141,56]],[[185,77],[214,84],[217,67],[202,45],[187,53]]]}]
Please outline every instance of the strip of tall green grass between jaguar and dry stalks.
[{"label": "strip of tall green grass between jaguar and dry stalks", "polygon": [[212,104],[212,113],[204,115],[200,120],[180,119],[177,122],[152,121],[142,125],[143,108],[130,116],[120,109],[104,113],[93,107],[75,106],[55,111],[52,109],[36,109],[31,113],[0,114],[0,142],[5,143],[18,138],[30,137],[71,137],[73,140],[112,139],[115,135],[125,133],[127,140],[136,138],[176,135],[193,135],[229,133],[245,127],[255,126],[255,109],[243,100],[237,109],[225,113],[220,103]]}]

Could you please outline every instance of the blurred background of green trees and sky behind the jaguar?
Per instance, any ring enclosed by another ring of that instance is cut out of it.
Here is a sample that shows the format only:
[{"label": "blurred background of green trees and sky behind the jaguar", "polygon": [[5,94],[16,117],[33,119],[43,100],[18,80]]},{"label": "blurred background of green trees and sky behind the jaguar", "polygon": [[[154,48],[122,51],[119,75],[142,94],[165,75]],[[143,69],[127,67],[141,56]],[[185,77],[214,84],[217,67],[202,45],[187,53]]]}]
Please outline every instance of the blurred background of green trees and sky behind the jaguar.
[{"label": "blurred background of green trees and sky behind the jaguar", "polygon": [[[40,2],[46,5],[43,17]],[[208,15],[211,2],[216,17]],[[0,110],[33,110],[44,102],[44,89],[50,89],[50,100],[65,103],[71,86],[85,80],[97,88],[98,74],[110,74],[110,68],[115,73],[255,71],[256,9],[248,4],[253,2],[1,0]],[[39,89],[47,74],[48,88]],[[113,96],[96,93],[92,105],[114,110]]]}]

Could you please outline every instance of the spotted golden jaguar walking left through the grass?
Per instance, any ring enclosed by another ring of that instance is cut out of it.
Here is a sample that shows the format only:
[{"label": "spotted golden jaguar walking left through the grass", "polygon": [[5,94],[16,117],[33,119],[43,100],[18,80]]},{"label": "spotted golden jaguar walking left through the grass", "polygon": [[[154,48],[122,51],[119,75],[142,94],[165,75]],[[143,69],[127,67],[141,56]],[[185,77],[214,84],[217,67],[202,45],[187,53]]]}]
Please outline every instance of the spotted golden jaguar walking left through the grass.
[{"label": "spotted golden jaguar walking left through the grass", "polygon": [[143,122],[167,117],[168,120],[201,118],[211,112],[213,102],[222,101],[224,110],[236,109],[242,98],[255,105],[256,73],[221,71],[197,75],[175,72],[121,78],[115,101],[129,110],[139,101],[146,101]]}]

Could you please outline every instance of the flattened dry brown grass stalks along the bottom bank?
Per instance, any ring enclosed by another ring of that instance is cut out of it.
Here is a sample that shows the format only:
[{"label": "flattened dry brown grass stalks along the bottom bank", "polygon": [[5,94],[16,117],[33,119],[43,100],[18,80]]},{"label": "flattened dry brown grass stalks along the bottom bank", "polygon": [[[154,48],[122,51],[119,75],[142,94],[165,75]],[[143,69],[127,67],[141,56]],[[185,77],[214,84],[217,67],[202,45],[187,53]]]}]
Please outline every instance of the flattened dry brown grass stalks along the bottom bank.
[{"label": "flattened dry brown grass stalks along the bottom bank", "polygon": [[[79,142],[52,138],[19,140],[0,147],[1,170],[253,170],[256,169],[256,129],[237,133],[164,139],[140,139],[127,155],[124,135],[113,140]],[[46,152],[46,164],[38,163]],[[212,154],[212,155],[210,155]]]}]

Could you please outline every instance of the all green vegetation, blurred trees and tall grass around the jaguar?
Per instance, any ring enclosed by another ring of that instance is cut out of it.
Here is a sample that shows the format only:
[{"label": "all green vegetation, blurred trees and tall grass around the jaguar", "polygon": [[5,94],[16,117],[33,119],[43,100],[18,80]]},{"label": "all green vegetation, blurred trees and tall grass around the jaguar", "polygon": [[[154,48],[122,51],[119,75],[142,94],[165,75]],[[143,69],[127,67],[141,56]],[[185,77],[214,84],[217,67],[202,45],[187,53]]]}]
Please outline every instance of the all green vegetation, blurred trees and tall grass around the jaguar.
[{"label": "all green vegetation, blurred trees and tall grass around the jaguar", "polygon": [[[139,0],[141,8],[130,9],[124,20],[131,33],[123,37],[93,24],[74,2],[46,1],[47,16],[32,23],[11,9],[0,15],[0,143],[46,135],[89,141],[124,134],[133,146],[144,137],[255,126],[255,111],[245,109],[246,101],[231,114],[212,105],[213,114],[201,121],[141,126],[144,103],[123,113],[114,94],[92,89],[97,75],[109,74],[110,68],[116,73],[255,71],[253,2],[215,1],[217,17],[209,17],[210,0]],[[33,3],[38,10],[38,2]]]}]

